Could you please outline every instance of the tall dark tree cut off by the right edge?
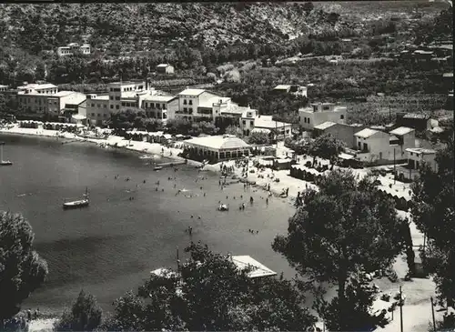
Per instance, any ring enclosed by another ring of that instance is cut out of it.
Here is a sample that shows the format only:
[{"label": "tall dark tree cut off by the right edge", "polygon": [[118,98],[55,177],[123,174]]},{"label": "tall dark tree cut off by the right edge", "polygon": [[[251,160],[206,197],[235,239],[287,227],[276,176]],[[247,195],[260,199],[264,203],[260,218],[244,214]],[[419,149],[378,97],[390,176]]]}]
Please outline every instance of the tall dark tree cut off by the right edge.
[{"label": "tall dark tree cut off by the right edge", "polygon": [[422,262],[434,275],[440,302],[451,305],[455,299],[455,211],[453,202],[453,126],[447,146],[436,156],[437,171],[420,167],[420,177],[412,184],[411,215],[420,231],[428,238]]}]

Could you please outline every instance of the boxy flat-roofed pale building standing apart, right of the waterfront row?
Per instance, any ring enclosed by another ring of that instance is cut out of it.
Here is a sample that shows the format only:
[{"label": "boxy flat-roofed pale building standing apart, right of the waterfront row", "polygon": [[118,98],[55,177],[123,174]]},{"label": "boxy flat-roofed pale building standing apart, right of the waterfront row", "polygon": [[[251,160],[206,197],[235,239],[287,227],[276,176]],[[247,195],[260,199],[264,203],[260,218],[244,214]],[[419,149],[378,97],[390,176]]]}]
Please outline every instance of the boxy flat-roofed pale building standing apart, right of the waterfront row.
[{"label": "boxy flat-roofed pale building standing apart, right of the waterfront row", "polygon": [[306,130],[313,130],[324,122],[345,124],[348,110],[346,106],[338,106],[333,103],[311,104],[310,107],[298,110],[300,126]]}]

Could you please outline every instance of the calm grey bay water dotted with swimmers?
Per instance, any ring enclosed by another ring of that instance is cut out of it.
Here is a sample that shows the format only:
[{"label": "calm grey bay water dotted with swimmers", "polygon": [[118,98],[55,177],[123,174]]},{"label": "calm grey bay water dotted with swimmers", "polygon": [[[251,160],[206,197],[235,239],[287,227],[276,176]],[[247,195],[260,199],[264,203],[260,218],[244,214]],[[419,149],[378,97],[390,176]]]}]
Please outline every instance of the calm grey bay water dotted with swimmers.
[{"label": "calm grey bay water dotted with swimmers", "polygon": [[[0,209],[24,213],[35,231],[35,248],[49,265],[45,286],[25,307],[61,308],[85,288],[109,308],[116,297],[136,290],[150,270],[176,265],[177,246],[185,257],[183,248],[191,239],[218,252],[250,255],[278,274],[294,276],[270,246],[274,236],[286,232],[293,213],[281,199],[270,199],[266,206],[265,193],[244,192],[241,184],[220,190],[216,174],[205,173],[207,179],[196,182],[200,175],[190,166],[156,172],[146,165],[150,156],[125,150],[62,145],[55,138],[1,140],[14,166],[0,168]],[[174,176],[176,181],[168,180]],[[90,206],[64,211],[64,198],[81,196],[86,187]],[[178,188],[193,196],[176,195]],[[245,211],[217,211],[220,200],[239,206],[240,195]],[[255,198],[253,206],[249,196]],[[188,226],[193,227],[191,238],[185,232]],[[259,230],[258,235],[249,228]]]}]

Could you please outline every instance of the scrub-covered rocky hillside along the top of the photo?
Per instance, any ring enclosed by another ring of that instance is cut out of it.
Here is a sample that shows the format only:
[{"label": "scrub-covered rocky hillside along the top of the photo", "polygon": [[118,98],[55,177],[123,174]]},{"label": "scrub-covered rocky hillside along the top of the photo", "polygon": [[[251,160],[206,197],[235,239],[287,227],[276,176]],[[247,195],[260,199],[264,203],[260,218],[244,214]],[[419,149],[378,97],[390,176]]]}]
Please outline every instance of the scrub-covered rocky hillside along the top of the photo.
[{"label": "scrub-covered rocky hillside along the top of the photo", "polygon": [[[149,50],[185,44],[286,43],[302,34],[337,30],[341,20],[304,3],[2,5],[5,45],[37,54],[86,39],[97,48]],[[127,47],[125,47],[127,45]]]}]

